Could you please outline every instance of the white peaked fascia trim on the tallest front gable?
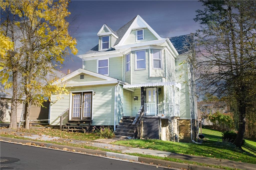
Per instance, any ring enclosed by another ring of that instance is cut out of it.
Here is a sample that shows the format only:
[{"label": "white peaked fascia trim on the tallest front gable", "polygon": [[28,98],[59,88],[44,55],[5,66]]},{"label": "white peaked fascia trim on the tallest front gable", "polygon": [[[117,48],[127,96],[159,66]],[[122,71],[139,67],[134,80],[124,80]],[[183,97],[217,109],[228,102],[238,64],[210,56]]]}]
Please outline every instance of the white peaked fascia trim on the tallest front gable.
[{"label": "white peaked fascia trim on the tallest front gable", "polygon": [[[137,29],[137,28],[141,28],[141,27],[135,27],[135,24],[140,20],[140,22],[142,22],[142,24],[144,24],[145,26],[143,28],[147,28],[148,30],[150,30],[152,32],[153,35],[155,35],[155,37],[158,40],[162,40],[165,38],[160,37],[147,23],[146,21],[144,21],[144,19],[141,18],[141,16],[137,15],[137,17],[134,19],[134,21],[132,22],[131,26],[128,28],[128,30],[125,32],[124,36],[122,37],[122,39],[120,40],[120,42],[116,45],[116,46],[121,46],[123,45],[124,41],[127,39],[127,37],[130,35],[130,32],[132,31],[132,29]],[[115,46],[115,47],[116,47]]]}]

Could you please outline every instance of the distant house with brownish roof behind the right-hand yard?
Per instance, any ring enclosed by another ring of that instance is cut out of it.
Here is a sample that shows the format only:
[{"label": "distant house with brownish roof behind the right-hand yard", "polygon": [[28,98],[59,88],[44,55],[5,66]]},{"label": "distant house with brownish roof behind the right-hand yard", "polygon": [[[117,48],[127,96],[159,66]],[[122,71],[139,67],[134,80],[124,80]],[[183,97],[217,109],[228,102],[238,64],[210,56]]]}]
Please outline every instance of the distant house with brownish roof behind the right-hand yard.
[{"label": "distant house with brownish roof behind the right-hand yard", "polygon": [[200,102],[197,102],[197,106],[198,106],[198,110],[201,111],[202,125],[212,125],[212,122],[208,118],[210,114],[214,114],[217,111],[220,113],[228,113],[229,112],[229,106],[227,105],[226,102],[200,101]]}]

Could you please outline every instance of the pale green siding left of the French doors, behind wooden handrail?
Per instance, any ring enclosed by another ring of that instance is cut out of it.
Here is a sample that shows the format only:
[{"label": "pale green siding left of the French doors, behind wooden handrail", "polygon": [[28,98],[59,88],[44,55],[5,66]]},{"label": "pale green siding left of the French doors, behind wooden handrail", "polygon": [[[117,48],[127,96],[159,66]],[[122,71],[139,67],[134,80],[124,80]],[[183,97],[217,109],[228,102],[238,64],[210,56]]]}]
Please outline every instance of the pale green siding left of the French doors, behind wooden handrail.
[{"label": "pale green siding left of the French doors, behind wooden handrail", "polygon": [[[60,118],[59,115],[64,112],[65,110],[67,110],[67,108],[69,108],[69,104],[70,104],[70,94],[62,94],[61,96],[52,94],[51,95],[51,106],[50,106],[50,125],[60,125]],[[68,112],[66,112],[63,117],[65,117],[68,114]],[[65,125],[66,123],[68,123],[68,117],[66,117],[63,122],[62,125]]]}]

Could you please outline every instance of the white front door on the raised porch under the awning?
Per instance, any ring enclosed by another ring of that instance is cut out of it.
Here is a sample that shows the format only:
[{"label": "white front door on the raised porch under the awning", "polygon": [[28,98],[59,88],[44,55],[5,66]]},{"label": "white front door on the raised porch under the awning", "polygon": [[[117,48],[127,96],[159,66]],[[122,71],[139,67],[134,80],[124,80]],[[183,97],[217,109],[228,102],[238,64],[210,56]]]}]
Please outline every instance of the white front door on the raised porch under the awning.
[{"label": "white front door on the raised porch under the awning", "polygon": [[147,88],[146,93],[146,115],[156,115],[156,90]]}]

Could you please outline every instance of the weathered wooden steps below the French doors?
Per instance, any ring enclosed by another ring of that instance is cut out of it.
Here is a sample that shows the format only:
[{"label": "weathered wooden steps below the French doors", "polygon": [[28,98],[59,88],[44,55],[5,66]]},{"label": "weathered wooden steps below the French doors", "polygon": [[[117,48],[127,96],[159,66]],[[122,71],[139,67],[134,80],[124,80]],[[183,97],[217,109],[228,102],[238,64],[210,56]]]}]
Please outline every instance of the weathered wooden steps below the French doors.
[{"label": "weathered wooden steps below the French doors", "polygon": [[[81,123],[82,122],[82,123]],[[66,126],[63,126],[61,130],[63,131],[72,131],[72,132],[83,132],[88,131],[91,125],[91,120],[82,120],[82,121],[69,121],[66,123]]]}]

